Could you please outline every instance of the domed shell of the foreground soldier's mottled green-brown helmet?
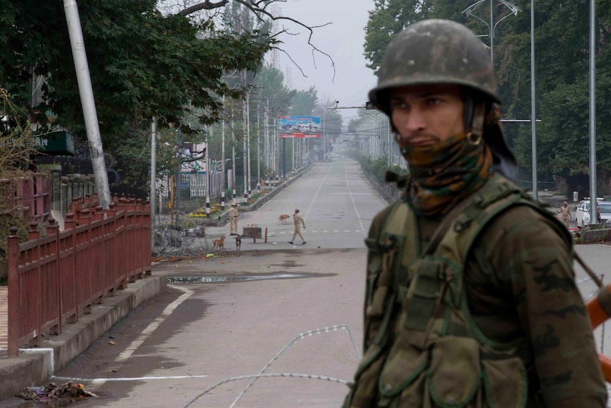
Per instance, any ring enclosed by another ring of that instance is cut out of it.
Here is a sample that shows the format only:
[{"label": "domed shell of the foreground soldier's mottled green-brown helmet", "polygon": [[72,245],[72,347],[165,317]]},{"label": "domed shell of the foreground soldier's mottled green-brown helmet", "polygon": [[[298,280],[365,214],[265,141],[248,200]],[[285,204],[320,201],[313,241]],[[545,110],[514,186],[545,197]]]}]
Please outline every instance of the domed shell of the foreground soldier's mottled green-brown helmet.
[{"label": "domed shell of the foreground soldier's mottled green-brown helmet", "polygon": [[417,84],[456,84],[500,104],[490,55],[469,28],[449,20],[410,24],[386,48],[369,100],[386,114],[384,91]]}]

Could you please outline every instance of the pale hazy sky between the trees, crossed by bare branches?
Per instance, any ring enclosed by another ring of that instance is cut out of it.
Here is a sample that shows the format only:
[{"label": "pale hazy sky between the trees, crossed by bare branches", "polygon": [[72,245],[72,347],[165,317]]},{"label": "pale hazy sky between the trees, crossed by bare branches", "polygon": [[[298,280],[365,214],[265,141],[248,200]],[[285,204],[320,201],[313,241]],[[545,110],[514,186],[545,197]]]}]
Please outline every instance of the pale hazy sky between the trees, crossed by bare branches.
[{"label": "pale hazy sky between the trees, crossed by bare branches", "polygon": [[[318,99],[340,101],[339,106],[364,106],[367,92],[376,85],[373,71],[365,66],[363,44],[368,11],[374,8],[373,0],[286,0],[277,3],[281,14],[302,21],[309,26],[332,23],[325,27],[315,28],[311,42],[332,57],[335,63],[335,79],[332,62],[329,57],[320,53],[312,54],[308,45],[309,32],[296,24],[279,21],[278,29],[283,26],[291,33],[299,35],[282,35],[284,44],[281,48],[301,67],[291,62],[284,53],[278,54],[278,68],[294,89],[308,89],[314,85],[318,90]],[[357,116],[357,109],[338,110],[344,117],[344,124],[349,118]]]}]

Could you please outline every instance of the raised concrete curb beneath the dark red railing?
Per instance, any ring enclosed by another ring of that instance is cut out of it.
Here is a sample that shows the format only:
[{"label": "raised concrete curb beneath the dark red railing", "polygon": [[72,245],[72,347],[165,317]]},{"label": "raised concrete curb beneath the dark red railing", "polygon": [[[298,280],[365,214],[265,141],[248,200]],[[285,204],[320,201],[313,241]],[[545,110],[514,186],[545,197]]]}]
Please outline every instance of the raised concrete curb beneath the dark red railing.
[{"label": "raised concrete curb beneath the dark red railing", "polygon": [[82,314],[74,324],[65,324],[60,335],[50,336],[36,348],[20,349],[18,358],[0,358],[0,401],[18,395],[25,387],[47,382],[113,324],[165,288],[165,277],[147,275],[115,296],[106,297],[103,304],[94,304],[90,314]]}]

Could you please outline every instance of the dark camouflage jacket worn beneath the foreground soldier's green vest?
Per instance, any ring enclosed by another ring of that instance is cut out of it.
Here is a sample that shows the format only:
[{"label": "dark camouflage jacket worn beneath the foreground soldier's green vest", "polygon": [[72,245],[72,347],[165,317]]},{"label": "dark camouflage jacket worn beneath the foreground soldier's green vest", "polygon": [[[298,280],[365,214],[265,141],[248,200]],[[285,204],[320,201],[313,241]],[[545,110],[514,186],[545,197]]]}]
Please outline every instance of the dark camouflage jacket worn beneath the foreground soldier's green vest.
[{"label": "dark camouflage jacket worn beneath the foreground soldier's green vest", "polygon": [[[370,239],[380,236],[390,209],[376,216]],[[441,221],[417,218],[417,253]],[[466,302],[486,337],[527,344],[527,407],[603,408],[607,392],[575,283],[572,248],[557,228],[525,205],[512,206],[489,221],[466,259]],[[370,340],[365,339],[365,350]]]}]

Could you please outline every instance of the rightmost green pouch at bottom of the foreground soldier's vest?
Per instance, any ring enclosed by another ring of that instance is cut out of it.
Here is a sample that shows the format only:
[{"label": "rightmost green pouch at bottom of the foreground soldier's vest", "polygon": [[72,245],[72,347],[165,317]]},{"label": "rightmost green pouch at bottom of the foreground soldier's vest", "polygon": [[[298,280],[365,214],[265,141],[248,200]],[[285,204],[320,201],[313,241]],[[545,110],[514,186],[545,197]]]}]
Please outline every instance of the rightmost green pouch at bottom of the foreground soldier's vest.
[{"label": "rightmost green pouch at bottom of the foreground soldier's vest", "polygon": [[483,382],[490,408],[525,408],[528,396],[526,368],[520,358],[483,360]]}]

